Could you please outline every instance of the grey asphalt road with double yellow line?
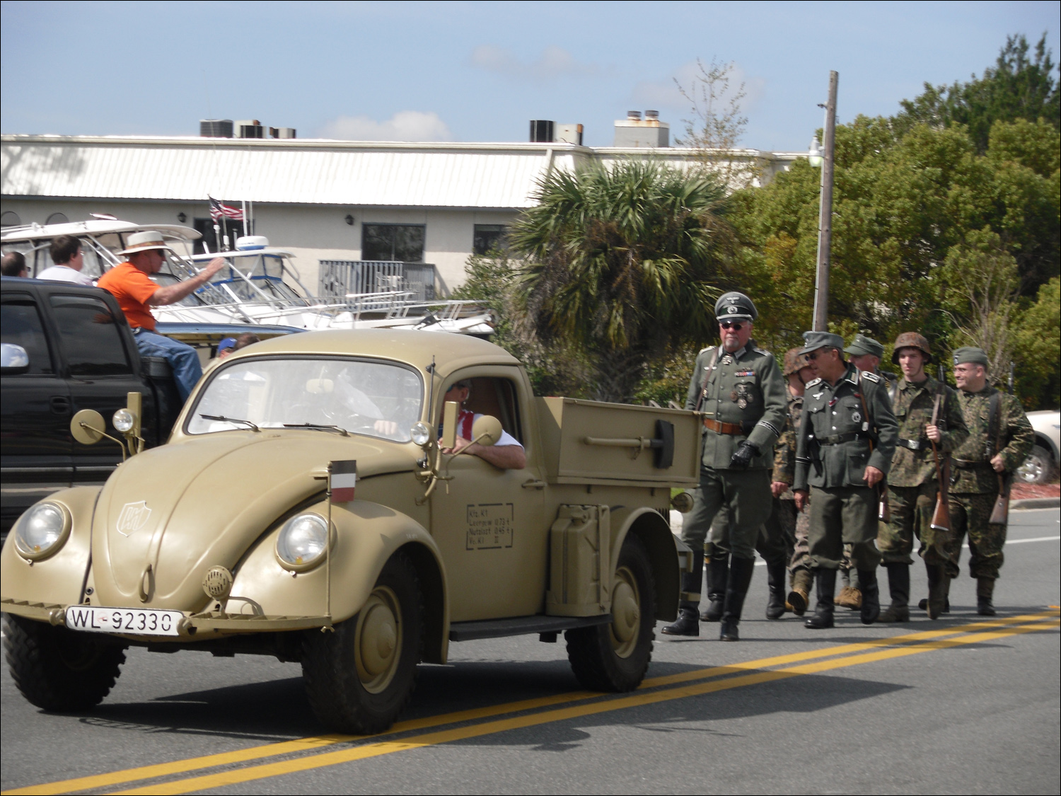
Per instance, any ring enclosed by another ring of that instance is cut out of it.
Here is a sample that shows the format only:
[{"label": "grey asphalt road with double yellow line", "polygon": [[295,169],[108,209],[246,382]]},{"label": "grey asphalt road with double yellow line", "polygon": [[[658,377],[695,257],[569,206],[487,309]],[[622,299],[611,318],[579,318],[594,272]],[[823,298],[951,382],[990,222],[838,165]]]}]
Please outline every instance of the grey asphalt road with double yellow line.
[{"label": "grey asphalt road with double yellow line", "polygon": [[[562,640],[454,644],[385,736],[321,737],[297,664],[133,650],[92,713],[2,680],[3,793],[1059,793],[1058,509],[1015,512],[995,621],[833,630],[763,619],[742,641],[657,633],[645,686],[581,692]],[[917,570],[915,599],[924,591]],[[146,769],[129,771],[142,766]],[[31,788],[39,785],[39,788]]]}]

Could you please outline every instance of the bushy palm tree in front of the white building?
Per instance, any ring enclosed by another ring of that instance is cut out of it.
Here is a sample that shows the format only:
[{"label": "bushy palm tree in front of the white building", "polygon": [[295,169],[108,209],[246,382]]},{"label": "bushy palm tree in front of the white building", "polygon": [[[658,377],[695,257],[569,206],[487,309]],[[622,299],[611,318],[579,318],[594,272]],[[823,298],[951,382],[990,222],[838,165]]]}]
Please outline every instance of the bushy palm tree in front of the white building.
[{"label": "bushy palm tree in front of the white building", "polygon": [[534,198],[508,238],[522,306],[543,342],[593,363],[595,398],[629,400],[650,359],[709,338],[731,250],[717,177],[620,160],[553,172]]}]

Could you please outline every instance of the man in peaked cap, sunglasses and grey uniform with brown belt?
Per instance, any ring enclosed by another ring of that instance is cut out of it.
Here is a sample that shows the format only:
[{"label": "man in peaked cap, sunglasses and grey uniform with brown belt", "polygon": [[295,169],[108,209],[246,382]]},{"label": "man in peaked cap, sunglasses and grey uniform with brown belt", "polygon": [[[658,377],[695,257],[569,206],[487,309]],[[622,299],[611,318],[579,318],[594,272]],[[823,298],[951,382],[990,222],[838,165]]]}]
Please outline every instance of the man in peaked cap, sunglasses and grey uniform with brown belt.
[{"label": "man in peaked cap, sunglasses and grey uniform with brown belt", "polygon": [[[683,523],[682,540],[694,551],[693,572],[682,590],[699,592],[703,542],[711,520],[726,506],[726,550],[712,552],[710,583],[726,584],[723,641],[737,641],[737,624],[755,565],[755,541],[772,508],[770,468],[773,443],[784,428],[785,387],[773,354],[751,342],[759,316],[743,293],[726,293],[715,304],[723,344],[696,358],[685,409],[703,413],[700,497],[702,516]],[[682,602],[669,636],[699,635],[697,604]]]}]

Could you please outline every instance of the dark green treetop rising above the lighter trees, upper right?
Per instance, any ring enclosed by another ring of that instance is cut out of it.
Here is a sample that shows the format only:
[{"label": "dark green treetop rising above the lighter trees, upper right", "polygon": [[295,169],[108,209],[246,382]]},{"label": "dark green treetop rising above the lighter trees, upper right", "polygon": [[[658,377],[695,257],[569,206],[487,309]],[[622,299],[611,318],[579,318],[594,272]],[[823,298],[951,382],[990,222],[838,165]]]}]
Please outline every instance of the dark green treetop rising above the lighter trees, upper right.
[{"label": "dark green treetop rising above the lighter trees, upper right", "polygon": [[994,67],[975,74],[968,83],[951,86],[924,84],[924,93],[904,100],[904,109],[897,120],[900,126],[929,124],[947,126],[963,124],[978,152],[986,152],[991,127],[996,121],[1012,122],[1044,119],[1054,127],[1061,126],[1061,104],[1055,64],[1046,49],[1046,34],[1036,45],[1034,56],[1028,56],[1028,40],[1023,35],[1007,36]]}]

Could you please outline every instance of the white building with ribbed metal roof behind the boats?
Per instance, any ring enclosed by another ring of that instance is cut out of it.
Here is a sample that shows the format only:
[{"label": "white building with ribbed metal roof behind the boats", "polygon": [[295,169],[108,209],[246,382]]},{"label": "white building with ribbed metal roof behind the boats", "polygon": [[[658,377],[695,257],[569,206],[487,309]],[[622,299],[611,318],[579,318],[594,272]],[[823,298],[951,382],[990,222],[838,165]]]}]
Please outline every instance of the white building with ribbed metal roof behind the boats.
[{"label": "white building with ribbed metal roof behind the boats", "polygon": [[[676,167],[695,150],[573,143],[401,143],[319,139],[4,135],[3,224],[109,213],[140,224],[187,224],[214,250],[208,196],[248,210],[253,232],[296,255],[307,285],[323,263],[434,265],[436,293],[532,205],[551,169],[648,154]],[[763,181],[804,153],[741,150]],[[226,228],[231,240],[242,224]]]}]

